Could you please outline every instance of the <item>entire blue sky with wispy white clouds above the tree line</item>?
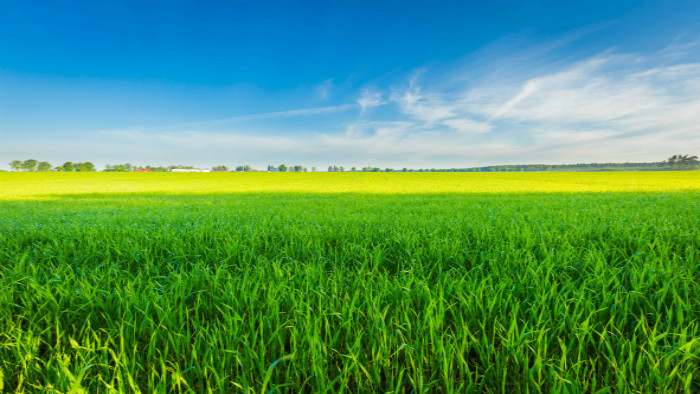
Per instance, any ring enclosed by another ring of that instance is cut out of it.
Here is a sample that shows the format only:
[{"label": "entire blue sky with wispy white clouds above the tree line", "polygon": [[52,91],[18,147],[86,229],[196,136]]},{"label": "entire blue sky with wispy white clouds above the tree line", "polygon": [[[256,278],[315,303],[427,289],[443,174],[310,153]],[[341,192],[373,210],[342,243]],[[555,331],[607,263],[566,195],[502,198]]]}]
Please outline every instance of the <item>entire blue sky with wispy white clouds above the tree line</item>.
[{"label": "entire blue sky with wispy white clouds above the tree line", "polygon": [[700,2],[0,1],[0,168],[700,154]]}]

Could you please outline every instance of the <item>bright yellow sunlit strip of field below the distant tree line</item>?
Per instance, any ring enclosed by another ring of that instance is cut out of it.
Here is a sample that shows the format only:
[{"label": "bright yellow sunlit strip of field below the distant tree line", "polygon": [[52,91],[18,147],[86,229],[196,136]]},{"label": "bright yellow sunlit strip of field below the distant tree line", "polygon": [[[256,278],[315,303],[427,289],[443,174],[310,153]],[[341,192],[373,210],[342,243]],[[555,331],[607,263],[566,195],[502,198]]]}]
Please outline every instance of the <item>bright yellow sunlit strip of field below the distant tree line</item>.
[{"label": "bright yellow sunlit strip of field below the distant tree line", "polygon": [[0,199],[82,193],[700,191],[700,171],[580,173],[0,173]]}]

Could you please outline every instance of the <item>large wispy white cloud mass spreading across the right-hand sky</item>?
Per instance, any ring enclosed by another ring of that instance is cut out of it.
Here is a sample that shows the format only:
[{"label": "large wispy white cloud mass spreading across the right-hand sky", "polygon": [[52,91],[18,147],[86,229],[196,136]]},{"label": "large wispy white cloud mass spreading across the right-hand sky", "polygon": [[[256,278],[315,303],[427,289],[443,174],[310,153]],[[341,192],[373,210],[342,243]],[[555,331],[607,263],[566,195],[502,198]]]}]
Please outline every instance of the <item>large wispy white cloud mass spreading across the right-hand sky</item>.
[{"label": "large wispy white cloud mass spreading across the right-hand sky", "polygon": [[535,76],[528,69],[520,79],[517,68],[494,72],[509,72],[510,83],[487,76],[440,90],[412,76],[391,99],[417,129],[449,128],[454,133],[442,130],[441,138],[454,146],[507,141],[519,147],[508,162],[653,160],[700,149],[697,55],[668,48],[646,55],[608,50],[546,65]]}]

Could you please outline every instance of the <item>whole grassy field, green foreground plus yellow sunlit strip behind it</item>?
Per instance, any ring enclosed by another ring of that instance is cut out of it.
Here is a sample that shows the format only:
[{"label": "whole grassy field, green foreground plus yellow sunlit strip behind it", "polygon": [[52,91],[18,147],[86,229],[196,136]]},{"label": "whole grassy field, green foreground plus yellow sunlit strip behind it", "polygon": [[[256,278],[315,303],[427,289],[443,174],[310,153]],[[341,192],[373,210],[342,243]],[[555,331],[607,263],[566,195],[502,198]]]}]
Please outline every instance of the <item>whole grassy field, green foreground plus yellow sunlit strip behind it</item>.
[{"label": "whole grassy field, green foreground plus yellow sunlit strip behind it", "polygon": [[700,392],[700,172],[0,173],[0,391]]}]

